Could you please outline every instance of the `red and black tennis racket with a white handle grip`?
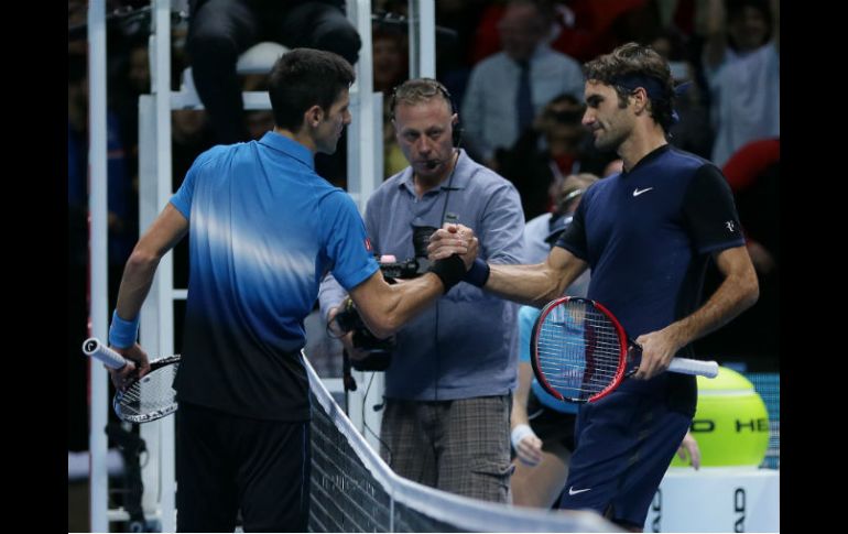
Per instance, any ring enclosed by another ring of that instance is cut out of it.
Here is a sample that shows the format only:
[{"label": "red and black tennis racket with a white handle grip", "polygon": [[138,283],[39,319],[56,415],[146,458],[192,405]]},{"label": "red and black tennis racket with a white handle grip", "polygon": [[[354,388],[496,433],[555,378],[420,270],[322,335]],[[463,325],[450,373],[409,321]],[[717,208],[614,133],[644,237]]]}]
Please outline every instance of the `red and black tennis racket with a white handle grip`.
[{"label": "red and black tennis racket with a white handle grip", "polygon": [[[630,341],[607,308],[588,298],[564,296],[550,302],[536,319],[530,342],[536,380],[561,401],[602,399],[639,369],[629,355],[641,356],[641,347]],[[715,378],[718,363],[673,358],[668,371]]]}]

